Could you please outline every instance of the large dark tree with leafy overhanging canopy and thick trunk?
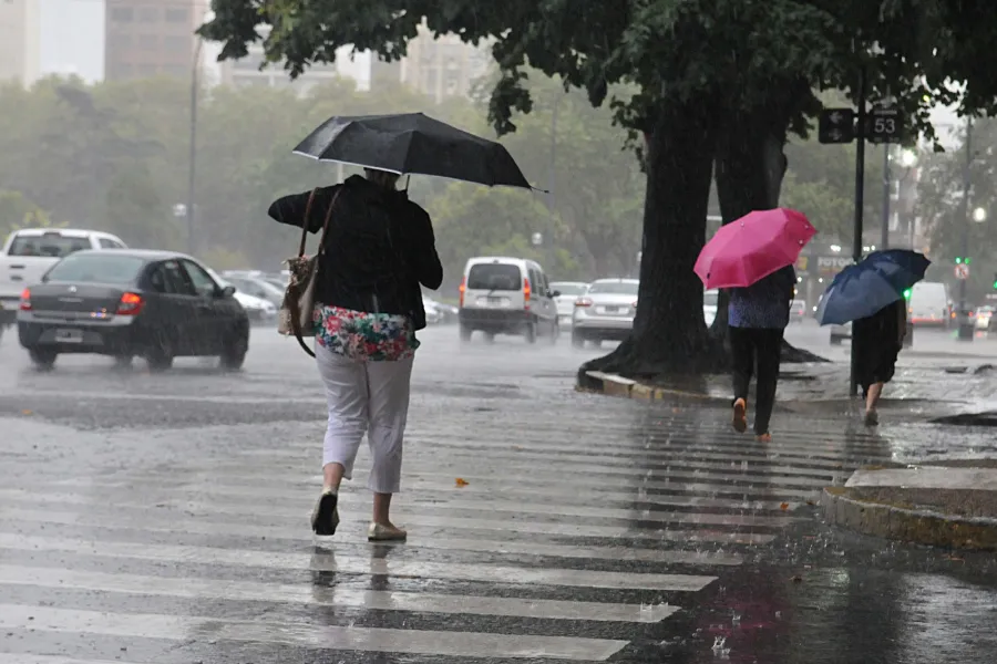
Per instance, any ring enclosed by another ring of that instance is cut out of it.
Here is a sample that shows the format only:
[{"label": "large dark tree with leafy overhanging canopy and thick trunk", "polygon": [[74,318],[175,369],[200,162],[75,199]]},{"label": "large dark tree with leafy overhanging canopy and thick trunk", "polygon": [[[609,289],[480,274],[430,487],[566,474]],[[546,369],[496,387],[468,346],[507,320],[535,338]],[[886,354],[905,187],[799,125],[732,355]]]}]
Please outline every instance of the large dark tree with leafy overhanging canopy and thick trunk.
[{"label": "large dark tree with leafy overhanging canopy and thick trunk", "polygon": [[[994,86],[986,85],[995,74],[979,64],[973,32],[987,12],[956,0],[215,0],[214,7],[203,33],[225,42],[223,58],[244,55],[259,39],[257,25],[269,23],[267,53],[291,75],[332,60],[346,44],[398,58],[423,18],[436,33],[493,39],[503,76],[491,120],[501,132],[515,128],[515,111],[532,108],[527,64],[584,89],[594,105],[615,83],[635,86],[636,95],[614,105],[647,167],[644,305],[630,339],[597,363],[633,375],[724,363],[703,325],[691,271],[705,240],[715,157],[730,220],[778,203],[782,148],[818,110],[815,87],[854,92],[864,69],[871,96],[888,90],[921,126],[927,101],[954,98],[943,87],[949,77],[974,83],[967,95],[974,107],[993,101]],[[986,30],[997,28],[990,22]]]}]

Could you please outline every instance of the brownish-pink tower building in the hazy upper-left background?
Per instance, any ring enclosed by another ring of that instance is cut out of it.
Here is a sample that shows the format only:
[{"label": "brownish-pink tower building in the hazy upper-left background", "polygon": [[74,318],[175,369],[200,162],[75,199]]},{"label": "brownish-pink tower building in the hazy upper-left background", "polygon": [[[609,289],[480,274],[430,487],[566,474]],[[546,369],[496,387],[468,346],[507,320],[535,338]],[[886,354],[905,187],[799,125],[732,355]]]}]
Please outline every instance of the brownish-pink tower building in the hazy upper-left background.
[{"label": "brownish-pink tower building in the hazy upper-left background", "polygon": [[209,0],[104,0],[104,77],[188,77]]}]

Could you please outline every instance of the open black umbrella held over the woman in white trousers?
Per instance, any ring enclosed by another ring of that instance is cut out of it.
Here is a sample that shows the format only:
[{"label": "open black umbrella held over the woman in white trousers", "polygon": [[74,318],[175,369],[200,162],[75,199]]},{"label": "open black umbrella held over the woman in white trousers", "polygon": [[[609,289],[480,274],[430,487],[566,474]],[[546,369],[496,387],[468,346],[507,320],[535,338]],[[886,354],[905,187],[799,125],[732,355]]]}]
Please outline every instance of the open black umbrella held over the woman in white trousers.
[{"label": "open black umbrella held over the woman in white trousers", "polygon": [[498,143],[422,113],[336,116],[294,151],[322,162],[449,177],[482,185],[533,187]]}]

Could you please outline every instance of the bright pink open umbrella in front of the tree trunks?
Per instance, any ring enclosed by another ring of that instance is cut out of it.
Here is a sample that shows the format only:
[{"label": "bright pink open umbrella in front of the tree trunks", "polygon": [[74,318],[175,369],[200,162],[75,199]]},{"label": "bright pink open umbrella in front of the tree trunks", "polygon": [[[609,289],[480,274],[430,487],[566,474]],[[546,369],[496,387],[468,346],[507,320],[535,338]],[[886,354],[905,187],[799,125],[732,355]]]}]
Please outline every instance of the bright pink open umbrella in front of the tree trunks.
[{"label": "bright pink open umbrella in front of the tree trunks", "polygon": [[814,235],[803,212],[756,210],[721,227],[692,270],[706,288],[744,288],[795,263]]}]

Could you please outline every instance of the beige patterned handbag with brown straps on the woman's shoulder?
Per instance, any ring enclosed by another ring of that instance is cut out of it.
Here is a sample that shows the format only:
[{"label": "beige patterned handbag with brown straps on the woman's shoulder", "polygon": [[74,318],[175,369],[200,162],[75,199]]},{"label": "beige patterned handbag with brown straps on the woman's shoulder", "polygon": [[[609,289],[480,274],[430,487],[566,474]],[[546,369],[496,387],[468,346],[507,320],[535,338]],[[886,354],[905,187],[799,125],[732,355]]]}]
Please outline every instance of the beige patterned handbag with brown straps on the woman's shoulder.
[{"label": "beige patterned handbag with brown straps on the woman's shoulder", "polygon": [[325,252],[326,232],[329,230],[329,219],[332,217],[332,208],[342,188],[336,191],[329,209],[326,210],[326,219],[322,222],[322,232],[319,236],[319,246],[315,256],[305,256],[305,242],[308,239],[308,219],[311,215],[311,204],[315,201],[312,189],[305,206],[305,219],[301,221],[301,243],[298,247],[298,256],[287,260],[290,270],[290,280],[284,292],[284,302],[277,320],[277,331],[280,334],[294,334],[306,353],[315,357],[315,353],[305,343],[305,336],[315,336],[315,287],[318,281],[319,258]]}]

